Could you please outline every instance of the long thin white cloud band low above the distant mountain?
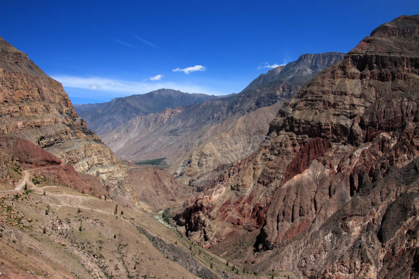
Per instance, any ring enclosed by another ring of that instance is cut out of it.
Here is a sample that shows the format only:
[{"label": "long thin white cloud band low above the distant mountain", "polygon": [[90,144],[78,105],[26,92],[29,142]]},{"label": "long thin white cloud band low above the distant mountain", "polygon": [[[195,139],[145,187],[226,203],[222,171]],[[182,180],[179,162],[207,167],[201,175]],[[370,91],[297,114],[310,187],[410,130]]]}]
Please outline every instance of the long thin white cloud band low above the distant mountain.
[{"label": "long thin white cloud band low above the distant mountain", "polygon": [[[78,88],[81,90],[92,89],[90,94],[92,97],[96,97],[97,99],[103,98],[104,94],[108,94],[113,97],[121,97],[132,94],[143,94],[153,90],[158,90],[160,88],[170,88],[174,90],[180,90],[182,92],[203,93],[208,95],[224,95],[229,93],[222,90],[213,90],[207,86],[201,86],[197,84],[176,83],[171,81],[163,82],[163,80],[147,82],[149,79],[145,79],[144,81],[128,81],[117,80],[114,78],[77,77],[67,75],[52,75],[52,78],[61,82],[64,87]],[[98,93],[93,93],[93,90],[97,91]],[[78,94],[81,95],[82,93]],[[83,97],[83,95],[81,95],[81,97]]]}]

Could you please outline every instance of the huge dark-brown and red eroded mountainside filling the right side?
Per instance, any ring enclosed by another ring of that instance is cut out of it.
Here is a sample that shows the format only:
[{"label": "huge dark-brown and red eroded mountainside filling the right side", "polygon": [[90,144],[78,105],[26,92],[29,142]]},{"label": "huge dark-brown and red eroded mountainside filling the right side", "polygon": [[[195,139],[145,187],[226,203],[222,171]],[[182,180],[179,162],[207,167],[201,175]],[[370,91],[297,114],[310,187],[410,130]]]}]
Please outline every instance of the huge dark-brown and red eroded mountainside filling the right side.
[{"label": "huge dark-brown and red eroded mountainside filling the right side", "polygon": [[416,278],[418,104],[419,15],[401,16],[311,79],[178,223],[259,272]]}]

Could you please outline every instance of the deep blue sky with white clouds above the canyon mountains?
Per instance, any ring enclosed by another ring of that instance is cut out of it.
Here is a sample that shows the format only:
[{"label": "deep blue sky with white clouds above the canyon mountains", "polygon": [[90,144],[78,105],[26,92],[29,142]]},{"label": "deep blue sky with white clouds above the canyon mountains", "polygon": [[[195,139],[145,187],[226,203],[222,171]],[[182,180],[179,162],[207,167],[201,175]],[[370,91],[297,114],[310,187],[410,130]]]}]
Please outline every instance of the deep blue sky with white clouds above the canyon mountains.
[{"label": "deep blue sky with white clouds above the canyon mountains", "polygon": [[0,36],[73,103],[158,88],[224,95],[264,66],[348,52],[380,24],[419,13],[419,1],[343,2],[13,0],[2,3]]}]

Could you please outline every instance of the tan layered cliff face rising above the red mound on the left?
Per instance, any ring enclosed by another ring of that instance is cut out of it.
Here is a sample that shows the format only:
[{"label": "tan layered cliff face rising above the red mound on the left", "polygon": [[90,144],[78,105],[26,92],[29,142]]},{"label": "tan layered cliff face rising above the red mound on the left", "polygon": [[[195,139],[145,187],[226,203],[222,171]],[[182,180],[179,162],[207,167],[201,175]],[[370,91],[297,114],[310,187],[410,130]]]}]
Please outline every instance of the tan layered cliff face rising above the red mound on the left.
[{"label": "tan layered cliff face rising above the red mound on the left", "polygon": [[62,85],[0,38],[0,131],[36,143],[77,171],[98,174],[113,152],[79,118]]}]

